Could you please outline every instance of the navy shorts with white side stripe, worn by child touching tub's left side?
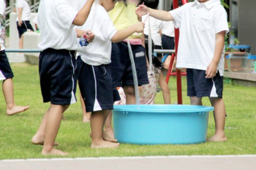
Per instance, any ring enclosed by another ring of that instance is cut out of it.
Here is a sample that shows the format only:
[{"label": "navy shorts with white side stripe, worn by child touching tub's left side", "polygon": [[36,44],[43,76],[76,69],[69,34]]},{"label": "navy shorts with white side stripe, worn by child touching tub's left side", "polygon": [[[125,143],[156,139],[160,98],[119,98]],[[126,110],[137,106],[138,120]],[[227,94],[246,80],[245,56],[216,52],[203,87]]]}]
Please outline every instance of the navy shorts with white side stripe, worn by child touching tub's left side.
[{"label": "navy shorts with white side stripe, worn by child touching tub's left side", "polygon": [[113,85],[109,64],[89,65],[78,56],[77,73],[86,112],[112,110],[120,96]]}]

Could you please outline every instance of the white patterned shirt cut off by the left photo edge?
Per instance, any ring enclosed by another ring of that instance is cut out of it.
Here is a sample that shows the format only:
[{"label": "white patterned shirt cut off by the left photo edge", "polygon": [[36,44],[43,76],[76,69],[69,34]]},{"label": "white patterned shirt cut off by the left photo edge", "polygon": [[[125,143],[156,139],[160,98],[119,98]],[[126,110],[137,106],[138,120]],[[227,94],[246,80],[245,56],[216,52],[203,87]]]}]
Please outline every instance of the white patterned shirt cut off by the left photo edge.
[{"label": "white patterned shirt cut off by the left photo edge", "polygon": [[4,39],[5,39],[5,36],[6,36],[5,10],[6,10],[6,3],[5,3],[4,0],[0,0],[0,45],[1,45],[1,50],[5,49],[5,46],[4,46]]}]

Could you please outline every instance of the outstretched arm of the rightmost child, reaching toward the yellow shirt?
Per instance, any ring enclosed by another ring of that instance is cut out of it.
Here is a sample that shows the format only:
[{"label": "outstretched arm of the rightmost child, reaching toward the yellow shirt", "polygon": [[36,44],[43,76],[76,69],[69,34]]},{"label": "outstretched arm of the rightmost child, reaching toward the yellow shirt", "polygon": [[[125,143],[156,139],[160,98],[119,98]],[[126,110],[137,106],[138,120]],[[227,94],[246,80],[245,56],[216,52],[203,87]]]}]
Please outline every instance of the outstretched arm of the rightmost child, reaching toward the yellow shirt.
[{"label": "outstretched arm of the rightmost child, reaching toward the yellow shirt", "polygon": [[166,20],[166,21],[169,21],[169,20],[174,20],[173,16],[171,15],[170,12],[168,11],[164,11],[164,10],[157,10],[157,9],[152,9],[150,7],[147,7],[146,5],[139,5],[137,8],[136,8],[136,13],[140,16],[142,15],[145,15],[147,13],[150,14],[150,16],[153,16],[157,19],[160,19],[160,20]]}]

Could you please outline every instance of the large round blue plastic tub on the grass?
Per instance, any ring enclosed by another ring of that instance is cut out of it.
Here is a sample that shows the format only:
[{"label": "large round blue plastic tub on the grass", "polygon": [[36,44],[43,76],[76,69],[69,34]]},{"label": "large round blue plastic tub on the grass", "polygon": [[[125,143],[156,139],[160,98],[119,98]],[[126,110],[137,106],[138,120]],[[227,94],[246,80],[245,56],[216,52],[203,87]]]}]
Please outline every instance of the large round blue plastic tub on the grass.
[{"label": "large round blue plastic tub on the grass", "polygon": [[192,144],[205,142],[211,106],[114,105],[114,136],[135,144]]}]

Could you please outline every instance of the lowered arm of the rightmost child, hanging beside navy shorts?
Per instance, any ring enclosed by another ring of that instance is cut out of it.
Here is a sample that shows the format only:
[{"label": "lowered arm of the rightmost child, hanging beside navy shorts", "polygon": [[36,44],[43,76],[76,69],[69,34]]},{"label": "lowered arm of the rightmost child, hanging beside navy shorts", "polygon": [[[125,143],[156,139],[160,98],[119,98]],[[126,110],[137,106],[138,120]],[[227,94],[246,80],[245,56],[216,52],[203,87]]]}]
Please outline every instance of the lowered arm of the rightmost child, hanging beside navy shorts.
[{"label": "lowered arm of the rightmost child, hanging beside navy shorts", "polygon": [[212,78],[216,75],[217,72],[217,66],[219,63],[219,59],[221,57],[222,51],[223,51],[223,46],[225,42],[225,34],[226,31],[221,31],[216,33],[216,42],[215,42],[215,50],[214,50],[214,55],[213,58],[210,62],[210,64],[207,66],[206,71],[205,71],[205,78]]}]

